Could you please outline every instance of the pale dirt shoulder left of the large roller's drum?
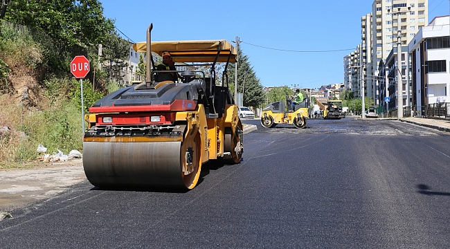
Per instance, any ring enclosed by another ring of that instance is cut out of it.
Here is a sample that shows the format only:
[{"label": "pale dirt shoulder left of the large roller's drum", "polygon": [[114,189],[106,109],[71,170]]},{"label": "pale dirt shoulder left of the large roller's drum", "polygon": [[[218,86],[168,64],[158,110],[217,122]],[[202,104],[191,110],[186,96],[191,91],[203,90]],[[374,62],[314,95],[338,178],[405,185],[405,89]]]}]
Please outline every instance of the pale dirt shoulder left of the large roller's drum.
[{"label": "pale dirt shoulder left of the large roller's drum", "polygon": [[8,212],[63,192],[87,180],[81,159],[35,169],[0,171],[0,212]]}]

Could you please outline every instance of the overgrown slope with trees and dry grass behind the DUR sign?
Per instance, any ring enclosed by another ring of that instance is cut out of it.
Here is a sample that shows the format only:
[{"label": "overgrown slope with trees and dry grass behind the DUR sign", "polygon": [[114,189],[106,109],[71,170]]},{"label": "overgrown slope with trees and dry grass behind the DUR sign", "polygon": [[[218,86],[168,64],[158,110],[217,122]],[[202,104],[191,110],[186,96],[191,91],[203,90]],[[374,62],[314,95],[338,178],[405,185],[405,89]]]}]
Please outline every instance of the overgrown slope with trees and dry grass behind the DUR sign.
[{"label": "overgrown slope with trees and dry grass behind the DUR sign", "polygon": [[[91,65],[83,80],[85,113],[120,88],[118,71],[126,66],[129,45],[115,33],[114,21],[102,17],[101,3],[53,2],[0,6],[0,169],[35,167],[38,145],[49,154],[82,151],[80,81],[69,70],[74,55],[116,62]],[[97,44],[105,44],[101,57]]]}]

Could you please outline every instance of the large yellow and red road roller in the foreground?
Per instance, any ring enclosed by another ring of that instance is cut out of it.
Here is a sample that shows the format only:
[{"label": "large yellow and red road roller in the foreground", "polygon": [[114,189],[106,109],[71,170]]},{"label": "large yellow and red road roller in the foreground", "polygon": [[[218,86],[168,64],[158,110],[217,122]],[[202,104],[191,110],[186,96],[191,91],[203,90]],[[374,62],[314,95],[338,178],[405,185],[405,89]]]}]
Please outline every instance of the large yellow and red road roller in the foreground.
[{"label": "large yellow and red road roller in the foreground", "polygon": [[[106,95],[84,117],[84,173],[94,186],[190,190],[204,163],[242,158],[242,122],[227,76],[235,48],[226,40],[152,42],[152,28],[146,42],[133,45],[147,55],[145,82]],[[150,55],[163,53],[173,67],[156,70]]]}]

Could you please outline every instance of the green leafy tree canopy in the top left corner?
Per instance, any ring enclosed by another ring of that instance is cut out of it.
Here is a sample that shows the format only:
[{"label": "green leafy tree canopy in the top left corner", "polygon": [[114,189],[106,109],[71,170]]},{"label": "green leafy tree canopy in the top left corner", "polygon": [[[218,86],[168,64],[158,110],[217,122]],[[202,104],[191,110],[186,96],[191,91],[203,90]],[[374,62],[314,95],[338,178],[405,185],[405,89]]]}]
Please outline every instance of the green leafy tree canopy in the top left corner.
[{"label": "green leafy tree canopy in the top left corner", "polygon": [[42,28],[61,45],[105,44],[114,30],[114,20],[103,16],[99,0],[2,0],[0,10],[7,21]]}]

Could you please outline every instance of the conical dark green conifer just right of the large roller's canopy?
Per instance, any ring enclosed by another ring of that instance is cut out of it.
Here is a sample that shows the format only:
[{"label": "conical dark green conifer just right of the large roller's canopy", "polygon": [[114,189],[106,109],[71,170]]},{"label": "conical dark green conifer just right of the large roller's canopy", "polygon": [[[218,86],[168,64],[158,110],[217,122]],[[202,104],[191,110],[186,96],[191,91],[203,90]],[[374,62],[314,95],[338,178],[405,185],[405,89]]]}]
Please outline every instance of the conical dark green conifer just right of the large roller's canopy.
[{"label": "conical dark green conifer just right of the large roller's canopy", "polygon": [[[267,98],[262,91],[260,79],[256,77],[253,66],[249,62],[249,57],[237,50],[239,62],[237,63],[237,93],[244,93],[245,107],[260,107]],[[231,84],[230,90],[234,93],[235,64],[228,65],[228,83]]]}]

